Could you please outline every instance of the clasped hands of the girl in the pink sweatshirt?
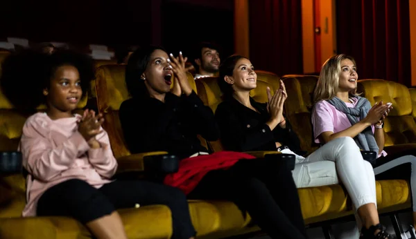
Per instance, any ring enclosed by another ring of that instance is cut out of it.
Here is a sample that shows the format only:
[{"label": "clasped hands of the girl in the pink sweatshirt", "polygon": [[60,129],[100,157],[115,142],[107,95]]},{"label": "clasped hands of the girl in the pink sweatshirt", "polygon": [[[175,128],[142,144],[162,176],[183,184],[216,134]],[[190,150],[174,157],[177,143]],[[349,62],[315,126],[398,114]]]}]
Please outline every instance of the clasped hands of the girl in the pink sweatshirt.
[{"label": "clasped hands of the girl in the pink sweatshirt", "polygon": [[95,136],[101,133],[100,126],[103,122],[102,114],[96,115],[94,111],[88,109],[84,111],[83,118],[78,122],[78,132],[83,135],[90,146],[97,146]]}]

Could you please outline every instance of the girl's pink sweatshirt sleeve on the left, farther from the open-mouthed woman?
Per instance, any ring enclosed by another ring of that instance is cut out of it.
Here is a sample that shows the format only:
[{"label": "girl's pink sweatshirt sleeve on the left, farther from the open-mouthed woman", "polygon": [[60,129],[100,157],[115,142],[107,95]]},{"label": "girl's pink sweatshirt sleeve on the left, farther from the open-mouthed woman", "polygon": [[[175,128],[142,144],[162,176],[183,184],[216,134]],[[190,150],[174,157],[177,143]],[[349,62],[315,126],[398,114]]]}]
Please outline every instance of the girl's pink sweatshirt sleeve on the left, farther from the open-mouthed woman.
[{"label": "girl's pink sweatshirt sleeve on the left, farther from the open-mouthed woman", "polygon": [[69,169],[77,157],[89,150],[89,145],[78,131],[59,145],[54,145],[50,137],[49,129],[30,117],[24,125],[20,141],[24,168],[45,182]]}]

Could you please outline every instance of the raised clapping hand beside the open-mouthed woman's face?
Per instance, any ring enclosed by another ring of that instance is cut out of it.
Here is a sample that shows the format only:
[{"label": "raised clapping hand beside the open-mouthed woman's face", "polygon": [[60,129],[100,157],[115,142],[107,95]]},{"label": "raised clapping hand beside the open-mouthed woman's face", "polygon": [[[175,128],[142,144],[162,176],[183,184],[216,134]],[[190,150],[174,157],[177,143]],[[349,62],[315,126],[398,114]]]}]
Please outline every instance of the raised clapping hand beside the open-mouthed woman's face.
[{"label": "raised clapping hand beside the open-mouthed woman's face", "polygon": [[185,95],[191,95],[192,87],[188,82],[187,70],[185,67],[187,60],[188,58],[183,57],[182,52],[179,52],[178,57],[174,57],[173,54],[170,54],[168,62],[171,65],[173,73],[175,74],[175,82],[179,83],[181,92]]}]

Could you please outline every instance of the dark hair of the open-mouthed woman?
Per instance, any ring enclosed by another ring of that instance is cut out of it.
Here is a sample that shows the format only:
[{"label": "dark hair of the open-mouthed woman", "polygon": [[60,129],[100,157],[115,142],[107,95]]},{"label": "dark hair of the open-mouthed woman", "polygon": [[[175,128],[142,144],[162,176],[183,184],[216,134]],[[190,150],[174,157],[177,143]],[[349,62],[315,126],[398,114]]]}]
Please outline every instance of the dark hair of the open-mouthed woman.
[{"label": "dark hair of the open-mouthed woman", "polygon": [[140,77],[148,66],[150,55],[155,50],[163,50],[166,52],[161,46],[147,46],[133,52],[128,59],[128,64],[125,67],[125,85],[127,86],[128,93],[133,98],[148,96],[144,80],[140,79]]}]

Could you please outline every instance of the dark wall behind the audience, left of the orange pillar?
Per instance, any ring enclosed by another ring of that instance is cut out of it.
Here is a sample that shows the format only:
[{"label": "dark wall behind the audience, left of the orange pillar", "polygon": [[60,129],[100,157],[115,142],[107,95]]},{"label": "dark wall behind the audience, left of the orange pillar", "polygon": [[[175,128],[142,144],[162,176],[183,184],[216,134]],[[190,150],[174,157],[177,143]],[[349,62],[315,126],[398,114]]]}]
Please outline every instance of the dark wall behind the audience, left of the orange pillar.
[{"label": "dark wall behind the audience, left of the orange pillar", "polygon": [[217,41],[234,50],[234,0],[1,1],[0,21],[0,39],[163,44],[182,51],[196,41]]}]

